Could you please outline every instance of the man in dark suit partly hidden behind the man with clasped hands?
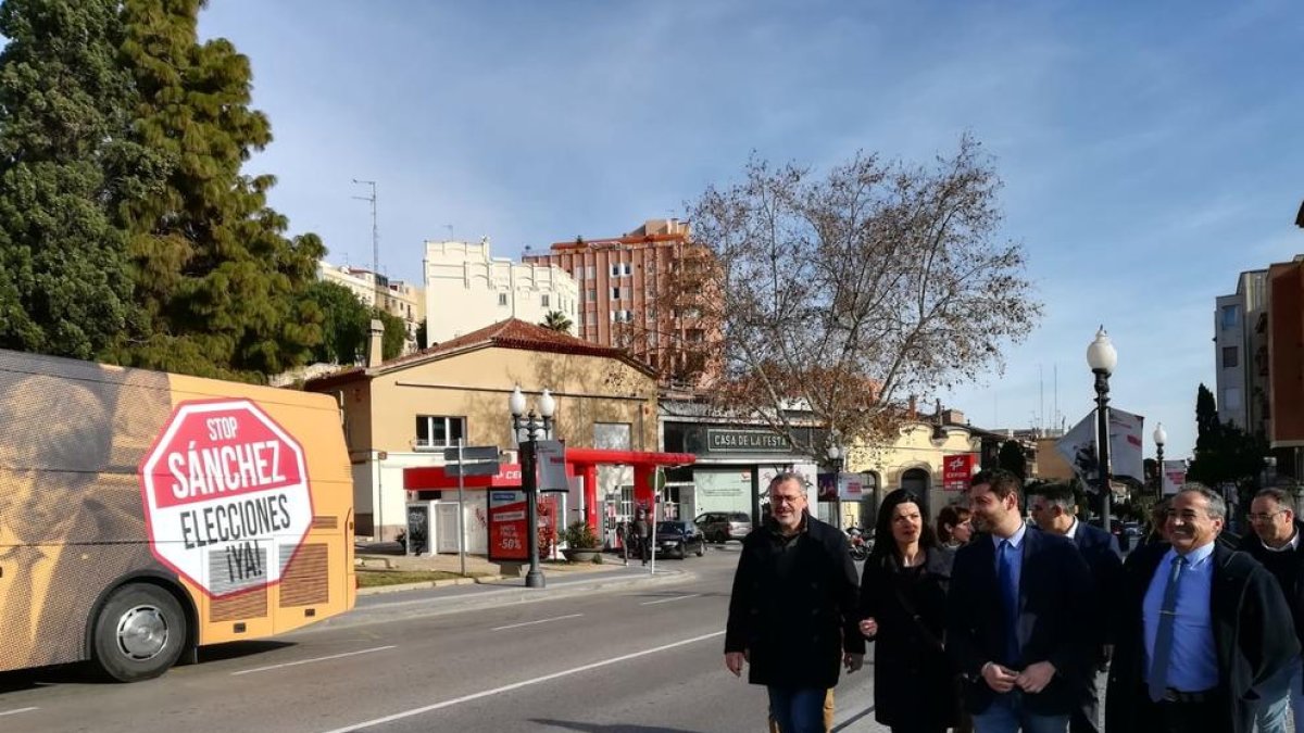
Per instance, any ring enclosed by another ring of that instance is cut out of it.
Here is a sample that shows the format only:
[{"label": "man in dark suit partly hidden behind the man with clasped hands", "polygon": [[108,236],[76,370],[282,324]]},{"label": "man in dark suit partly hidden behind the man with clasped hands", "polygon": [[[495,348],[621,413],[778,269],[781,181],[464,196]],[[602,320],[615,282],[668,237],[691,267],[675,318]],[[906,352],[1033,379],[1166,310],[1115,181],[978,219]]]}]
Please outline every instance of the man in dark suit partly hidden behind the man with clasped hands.
[{"label": "man in dark suit partly hidden behind the man with clasped hands", "polygon": [[[1119,541],[1114,535],[1077,520],[1077,502],[1073,497],[1073,488],[1068,484],[1047,484],[1038,486],[1029,498],[1028,509],[1033,515],[1033,522],[1043,532],[1060,535],[1073,540],[1077,550],[1082,553],[1082,560],[1091,571],[1091,601],[1094,605],[1089,613],[1091,627],[1091,661],[1101,669],[1110,663],[1114,651],[1114,622],[1112,613],[1116,604],[1111,599],[1118,599],[1118,592],[1123,582],[1123,558],[1119,553]],[[1089,673],[1082,678],[1082,687],[1078,691],[1078,707],[1073,708],[1069,716],[1068,729],[1071,733],[1101,733],[1099,712],[1101,694],[1095,686],[1095,674]]]}]

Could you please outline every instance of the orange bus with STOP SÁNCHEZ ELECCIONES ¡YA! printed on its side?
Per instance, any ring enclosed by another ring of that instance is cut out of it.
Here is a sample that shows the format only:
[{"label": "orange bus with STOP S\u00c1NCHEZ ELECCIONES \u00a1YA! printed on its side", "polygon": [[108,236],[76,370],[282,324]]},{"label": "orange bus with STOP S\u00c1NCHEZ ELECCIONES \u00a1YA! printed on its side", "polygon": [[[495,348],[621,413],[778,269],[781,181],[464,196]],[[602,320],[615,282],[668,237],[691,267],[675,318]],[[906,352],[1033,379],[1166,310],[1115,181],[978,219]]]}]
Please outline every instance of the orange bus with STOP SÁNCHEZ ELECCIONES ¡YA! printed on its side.
[{"label": "orange bus with STOP S\u00c1NCHEZ ELECCIONES \u00a1YA! printed on its side", "polygon": [[0,350],[0,670],[124,682],[353,606],[327,395]]}]

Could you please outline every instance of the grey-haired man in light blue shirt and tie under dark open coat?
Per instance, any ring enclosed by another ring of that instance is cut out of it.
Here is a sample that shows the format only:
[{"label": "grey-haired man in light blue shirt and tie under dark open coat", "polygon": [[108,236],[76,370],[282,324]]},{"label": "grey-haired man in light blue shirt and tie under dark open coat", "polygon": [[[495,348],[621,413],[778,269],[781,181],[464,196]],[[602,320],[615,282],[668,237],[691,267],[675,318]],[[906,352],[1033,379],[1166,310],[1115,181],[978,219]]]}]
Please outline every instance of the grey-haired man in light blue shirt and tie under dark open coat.
[{"label": "grey-haired man in light blue shirt and tie under dark open coat", "polygon": [[1217,492],[1187,484],[1168,511],[1171,544],[1124,563],[1110,733],[1251,733],[1254,687],[1299,655],[1277,580],[1217,541],[1226,513]]}]

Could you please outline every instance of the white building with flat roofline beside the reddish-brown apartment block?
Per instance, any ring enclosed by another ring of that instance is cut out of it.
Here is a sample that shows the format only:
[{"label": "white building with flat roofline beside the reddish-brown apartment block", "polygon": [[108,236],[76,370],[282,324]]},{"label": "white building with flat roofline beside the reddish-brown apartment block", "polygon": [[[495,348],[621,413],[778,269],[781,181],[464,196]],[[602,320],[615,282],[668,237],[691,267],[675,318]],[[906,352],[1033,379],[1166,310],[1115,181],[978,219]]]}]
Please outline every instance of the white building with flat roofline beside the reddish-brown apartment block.
[{"label": "white building with flat roofline beside the reddish-brown apartment block", "polygon": [[425,293],[422,346],[507,318],[540,323],[553,310],[570,320],[571,334],[579,323],[579,286],[566,270],[492,257],[488,237],[479,243],[426,241]]}]

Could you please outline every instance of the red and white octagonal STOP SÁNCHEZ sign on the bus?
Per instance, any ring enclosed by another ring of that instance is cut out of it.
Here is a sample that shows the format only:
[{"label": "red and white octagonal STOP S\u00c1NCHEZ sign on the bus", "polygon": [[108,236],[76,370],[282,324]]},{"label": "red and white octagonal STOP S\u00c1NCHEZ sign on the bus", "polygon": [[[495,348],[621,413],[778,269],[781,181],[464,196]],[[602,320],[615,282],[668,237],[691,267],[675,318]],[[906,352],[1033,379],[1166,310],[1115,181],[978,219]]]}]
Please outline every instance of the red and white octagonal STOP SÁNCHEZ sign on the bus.
[{"label": "red and white octagonal STOP S\u00c1NCHEZ sign on the bus", "polygon": [[246,399],[180,404],[140,473],[154,557],[213,597],[279,582],[313,522],[303,446]]}]

